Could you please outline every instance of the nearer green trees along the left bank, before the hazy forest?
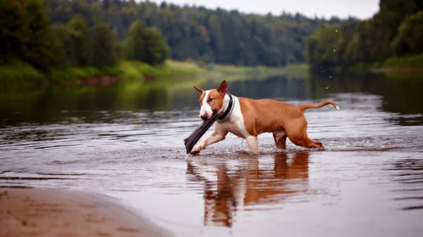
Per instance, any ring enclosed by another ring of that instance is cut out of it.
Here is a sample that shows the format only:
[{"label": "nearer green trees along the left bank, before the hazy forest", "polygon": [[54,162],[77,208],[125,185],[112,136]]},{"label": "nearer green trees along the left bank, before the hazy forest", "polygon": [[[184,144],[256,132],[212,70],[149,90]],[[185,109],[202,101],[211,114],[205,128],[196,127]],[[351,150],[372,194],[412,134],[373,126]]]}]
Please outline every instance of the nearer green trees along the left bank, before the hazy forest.
[{"label": "nearer green trees along the left bank, before the hazy forest", "polygon": [[[64,1],[63,1],[64,2]],[[93,66],[105,68],[119,60],[161,65],[170,49],[157,27],[135,20],[121,41],[116,30],[96,18],[75,13],[67,23],[52,25],[48,1],[0,1],[0,65],[23,61],[42,72],[51,68]]]}]

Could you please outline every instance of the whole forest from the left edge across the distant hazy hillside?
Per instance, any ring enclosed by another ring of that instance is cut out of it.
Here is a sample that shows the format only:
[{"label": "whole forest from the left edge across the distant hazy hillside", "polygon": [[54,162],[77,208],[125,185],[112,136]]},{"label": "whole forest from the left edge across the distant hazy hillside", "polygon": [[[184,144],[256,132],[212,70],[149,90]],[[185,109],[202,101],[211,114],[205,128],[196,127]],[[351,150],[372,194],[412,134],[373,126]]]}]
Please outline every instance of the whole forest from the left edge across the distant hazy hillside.
[{"label": "whole forest from the left edge across the distant hazy hillside", "polygon": [[0,65],[36,70],[167,58],[228,65],[302,63],[307,37],[355,18],[254,15],[133,0],[2,0]]}]

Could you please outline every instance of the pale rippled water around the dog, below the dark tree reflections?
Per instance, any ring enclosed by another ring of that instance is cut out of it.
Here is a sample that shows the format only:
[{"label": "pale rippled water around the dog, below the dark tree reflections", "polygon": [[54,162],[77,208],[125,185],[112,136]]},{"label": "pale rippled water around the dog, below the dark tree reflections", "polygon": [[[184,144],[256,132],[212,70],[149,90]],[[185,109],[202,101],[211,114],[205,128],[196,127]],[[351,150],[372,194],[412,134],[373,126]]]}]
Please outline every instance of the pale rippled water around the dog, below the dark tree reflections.
[{"label": "pale rippled water around the dog, below the dark tree reflections", "polygon": [[410,233],[422,217],[423,129],[398,120],[421,115],[384,112],[380,96],[336,96],[341,110],[305,114],[309,136],[325,151],[290,141],[281,151],[262,134],[260,152],[251,154],[245,140],[228,135],[187,157],[183,139],[200,124],[197,110],[66,111],[67,123],[2,127],[0,186],[108,193],[177,230],[228,226],[257,236],[282,223],[287,233],[311,229],[310,236],[327,233],[320,229],[327,223],[351,233],[350,226],[369,229],[366,222]]}]

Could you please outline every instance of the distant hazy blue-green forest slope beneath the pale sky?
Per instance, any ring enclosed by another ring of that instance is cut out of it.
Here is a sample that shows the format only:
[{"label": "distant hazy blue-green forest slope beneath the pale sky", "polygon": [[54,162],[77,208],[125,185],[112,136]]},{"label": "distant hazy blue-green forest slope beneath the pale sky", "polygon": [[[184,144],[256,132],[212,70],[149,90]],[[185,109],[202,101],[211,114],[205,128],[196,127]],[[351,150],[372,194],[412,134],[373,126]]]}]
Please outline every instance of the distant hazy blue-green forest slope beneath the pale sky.
[{"label": "distant hazy blue-green forest slope beneath the pale sky", "polygon": [[124,39],[131,23],[141,20],[164,34],[174,60],[233,65],[304,62],[305,41],[317,27],[356,20],[307,18],[299,13],[243,14],[134,0],[49,0],[49,6],[54,24],[68,23],[75,14],[84,15],[90,26],[102,18]]}]

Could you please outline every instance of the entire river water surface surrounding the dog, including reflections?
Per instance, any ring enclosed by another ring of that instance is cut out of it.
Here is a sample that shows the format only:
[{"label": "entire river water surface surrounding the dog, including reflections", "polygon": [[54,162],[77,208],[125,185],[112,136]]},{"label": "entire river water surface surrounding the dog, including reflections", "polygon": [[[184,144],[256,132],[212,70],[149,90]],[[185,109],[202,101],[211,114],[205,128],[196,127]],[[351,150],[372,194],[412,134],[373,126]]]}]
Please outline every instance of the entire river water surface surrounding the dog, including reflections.
[{"label": "entire river water surface surrounding the dog, including reflections", "polygon": [[2,92],[0,186],[104,193],[178,236],[423,236],[423,78],[228,84],[235,96],[336,101],[305,113],[327,150],[278,150],[262,134],[252,155],[230,134],[187,156],[200,124],[192,88]]}]

